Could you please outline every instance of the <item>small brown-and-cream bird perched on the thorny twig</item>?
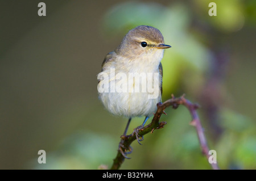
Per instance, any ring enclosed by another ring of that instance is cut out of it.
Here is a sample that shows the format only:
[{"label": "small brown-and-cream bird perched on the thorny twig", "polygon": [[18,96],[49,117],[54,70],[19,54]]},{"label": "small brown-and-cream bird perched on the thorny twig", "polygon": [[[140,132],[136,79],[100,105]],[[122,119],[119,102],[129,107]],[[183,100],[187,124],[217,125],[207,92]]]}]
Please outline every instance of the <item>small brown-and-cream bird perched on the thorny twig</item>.
[{"label": "small brown-and-cream bird perched on the thorny twig", "polygon": [[[127,117],[126,135],[132,117],[148,117],[161,102],[164,49],[162,33],[151,26],[130,30],[121,44],[106,55],[98,74],[98,94],[105,108],[113,115]],[[137,132],[136,132],[137,133]],[[138,142],[141,136],[136,135]],[[140,143],[140,142],[139,142]],[[122,146],[122,145],[121,145]]]}]

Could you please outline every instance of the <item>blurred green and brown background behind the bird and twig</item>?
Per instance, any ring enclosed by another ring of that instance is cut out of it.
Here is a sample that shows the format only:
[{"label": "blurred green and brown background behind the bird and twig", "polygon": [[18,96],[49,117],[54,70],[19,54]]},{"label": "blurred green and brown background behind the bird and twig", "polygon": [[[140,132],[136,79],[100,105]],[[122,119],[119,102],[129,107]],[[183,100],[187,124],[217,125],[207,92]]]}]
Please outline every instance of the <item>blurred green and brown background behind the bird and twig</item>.
[{"label": "blurred green and brown background behind the bird and twig", "polygon": [[[131,28],[158,28],[166,44],[163,101],[201,105],[201,122],[221,169],[256,169],[256,2],[41,1],[0,4],[0,169],[110,167],[127,120],[97,96],[107,53]],[[217,16],[209,16],[216,2]],[[166,110],[167,125],[134,142],[121,169],[210,169],[191,117]],[[132,120],[129,133],[143,117]],[[46,150],[46,164],[38,151]]]}]

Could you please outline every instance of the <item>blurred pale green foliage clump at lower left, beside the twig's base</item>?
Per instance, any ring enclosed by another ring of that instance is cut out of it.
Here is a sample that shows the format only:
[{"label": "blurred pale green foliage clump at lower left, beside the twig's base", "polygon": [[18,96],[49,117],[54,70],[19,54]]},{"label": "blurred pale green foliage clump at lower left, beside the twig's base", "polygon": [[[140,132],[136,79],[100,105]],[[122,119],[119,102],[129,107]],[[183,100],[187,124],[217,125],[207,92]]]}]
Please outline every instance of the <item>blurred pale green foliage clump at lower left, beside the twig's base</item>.
[{"label": "blurred pale green foliage clump at lower left, beside the twig's base", "polygon": [[47,164],[36,164],[35,169],[97,169],[102,163],[112,161],[115,147],[110,136],[77,132],[63,140],[57,151],[47,154]]}]

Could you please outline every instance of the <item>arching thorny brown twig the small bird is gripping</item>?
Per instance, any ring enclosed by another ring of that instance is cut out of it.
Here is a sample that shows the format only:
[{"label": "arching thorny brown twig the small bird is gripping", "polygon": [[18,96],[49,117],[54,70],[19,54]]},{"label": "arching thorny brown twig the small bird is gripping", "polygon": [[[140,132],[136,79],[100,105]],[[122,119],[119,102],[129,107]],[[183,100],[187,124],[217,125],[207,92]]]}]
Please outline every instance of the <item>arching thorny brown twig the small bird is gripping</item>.
[{"label": "arching thorny brown twig the small bird is gripping", "polygon": [[[166,124],[166,122],[159,123],[159,120],[160,120],[161,115],[163,113],[165,114],[164,110],[170,106],[172,106],[172,108],[176,109],[177,107],[179,107],[180,104],[183,104],[185,107],[187,107],[189,112],[191,113],[191,116],[192,116],[191,125],[193,125],[196,128],[196,132],[197,132],[197,136],[199,138],[199,143],[201,146],[202,153],[205,155],[205,157],[207,157],[207,161],[208,161],[208,159],[210,157],[209,148],[207,145],[207,140],[204,136],[204,131],[201,126],[199,116],[197,115],[197,112],[196,112],[197,108],[199,108],[199,105],[191,103],[189,100],[184,98],[184,95],[181,96],[180,98],[175,98],[175,96],[172,95],[172,98],[166,100],[166,102],[158,103],[157,104],[158,109],[156,110],[151,123],[141,129],[139,129],[138,134],[140,136],[143,136],[144,134],[147,134],[149,132],[153,133],[155,129],[163,128],[164,125]],[[125,153],[125,151],[127,149],[131,148],[130,145],[134,140],[136,140],[136,134],[121,136],[121,141],[119,144],[123,145],[122,146],[123,148],[121,148],[123,150],[118,150],[117,156],[115,157],[113,165],[110,169],[112,169],[112,170],[119,169],[119,167],[122,165],[123,161],[125,160],[123,153]],[[125,148],[127,148],[127,149],[125,149]],[[212,169],[218,170],[217,163],[210,163],[210,165],[212,166]]]}]

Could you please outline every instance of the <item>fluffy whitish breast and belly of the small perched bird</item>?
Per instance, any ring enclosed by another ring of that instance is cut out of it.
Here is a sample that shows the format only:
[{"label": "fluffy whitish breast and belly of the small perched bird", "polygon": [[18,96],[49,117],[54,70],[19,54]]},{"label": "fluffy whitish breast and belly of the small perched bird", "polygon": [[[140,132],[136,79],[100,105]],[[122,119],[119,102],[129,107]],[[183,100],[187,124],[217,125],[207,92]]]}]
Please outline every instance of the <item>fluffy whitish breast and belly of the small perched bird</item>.
[{"label": "fluffy whitish breast and belly of the small perched bird", "polygon": [[159,50],[133,59],[120,56],[104,68],[100,74],[108,78],[100,81],[98,87],[103,87],[99,95],[107,110],[125,117],[150,116],[156,111],[156,104],[161,101],[162,54]]}]

